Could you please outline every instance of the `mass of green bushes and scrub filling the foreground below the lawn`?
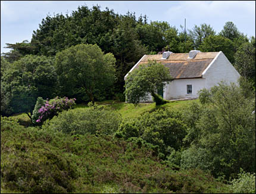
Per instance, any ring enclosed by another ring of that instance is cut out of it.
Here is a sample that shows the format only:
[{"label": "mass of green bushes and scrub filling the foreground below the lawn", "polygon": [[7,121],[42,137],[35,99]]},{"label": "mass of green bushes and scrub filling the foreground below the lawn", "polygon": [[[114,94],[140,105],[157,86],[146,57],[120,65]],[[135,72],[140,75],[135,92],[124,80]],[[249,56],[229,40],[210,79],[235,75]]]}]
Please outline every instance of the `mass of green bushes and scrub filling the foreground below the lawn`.
[{"label": "mass of green bushes and scrub filling the foreground below the lawn", "polygon": [[199,100],[123,121],[92,103],[61,112],[42,128],[1,118],[1,186],[23,192],[253,192],[254,94],[220,83],[202,90]]}]

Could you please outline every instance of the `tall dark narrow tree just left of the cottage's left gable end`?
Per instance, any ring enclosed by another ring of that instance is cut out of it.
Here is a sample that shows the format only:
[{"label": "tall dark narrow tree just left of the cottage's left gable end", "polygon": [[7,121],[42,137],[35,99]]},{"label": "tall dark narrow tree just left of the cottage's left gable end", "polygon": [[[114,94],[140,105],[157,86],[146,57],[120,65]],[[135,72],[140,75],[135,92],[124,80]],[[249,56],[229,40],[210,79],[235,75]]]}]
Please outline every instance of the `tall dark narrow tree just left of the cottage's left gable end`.
[{"label": "tall dark narrow tree just left of the cottage's left gable end", "polygon": [[124,92],[124,76],[147,52],[145,46],[138,40],[135,27],[135,14],[127,12],[126,15],[121,16],[121,23],[111,35],[113,45],[110,52],[114,54],[117,60],[115,92]]}]

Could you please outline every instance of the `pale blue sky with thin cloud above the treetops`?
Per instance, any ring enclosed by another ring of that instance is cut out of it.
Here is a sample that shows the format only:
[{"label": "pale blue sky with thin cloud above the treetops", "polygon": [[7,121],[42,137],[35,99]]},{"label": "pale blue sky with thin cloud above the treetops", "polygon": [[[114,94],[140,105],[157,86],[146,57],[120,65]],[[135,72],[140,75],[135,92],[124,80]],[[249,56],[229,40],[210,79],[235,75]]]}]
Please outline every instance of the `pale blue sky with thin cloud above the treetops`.
[{"label": "pale blue sky with thin cloud above the treetops", "polygon": [[148,21],[167,21],[180,29],[192,29],[203,23],[210,24],[218,33],[227,21],[233,21],[239,31],[255,36],[255,1],[1,1],[1,53],[8,52],[5,43],[31,40],[47,14],[71,14],[80,5],[101,10],[108,7],[118,14],[127,11],[147,15]]}]

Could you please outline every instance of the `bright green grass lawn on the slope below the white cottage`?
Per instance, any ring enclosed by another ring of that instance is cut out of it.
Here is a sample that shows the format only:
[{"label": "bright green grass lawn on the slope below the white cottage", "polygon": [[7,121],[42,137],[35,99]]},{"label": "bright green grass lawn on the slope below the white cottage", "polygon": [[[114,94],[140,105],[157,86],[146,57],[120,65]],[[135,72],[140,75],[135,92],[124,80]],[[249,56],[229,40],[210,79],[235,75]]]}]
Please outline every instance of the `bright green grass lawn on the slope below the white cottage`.
[{"label": "bright green grass lawn on the slope below the white cottage", "polygon": [[[106,107],[106,108],[112,109],[113,111],[116,111],[118,114],[121,115],[123,119],[129,119],[129,118],[139,117],[139,115],[142,115],[145,112],[154,111],[155,109],[180,108],[180,107],[183,107],[184,105],[188,105],[192,101],[199,102],[199,99],[186,100],[186,101],[170,101],[167,104],[160,105],[160,106],[155,106],[155,102],[133,105],[133,104],[118,102],[113,100],[95,102],[95,103],[100,107]],[[74,109],[83,109],[83,108],[88,108],[88,105],[86,103],[82,103],[82,104],[76,104],[74,106]],[[17,118],[18,122],[23,126],[32,126],[30,118],[25,113],[14,114],[12,115],[12,117]]]}]

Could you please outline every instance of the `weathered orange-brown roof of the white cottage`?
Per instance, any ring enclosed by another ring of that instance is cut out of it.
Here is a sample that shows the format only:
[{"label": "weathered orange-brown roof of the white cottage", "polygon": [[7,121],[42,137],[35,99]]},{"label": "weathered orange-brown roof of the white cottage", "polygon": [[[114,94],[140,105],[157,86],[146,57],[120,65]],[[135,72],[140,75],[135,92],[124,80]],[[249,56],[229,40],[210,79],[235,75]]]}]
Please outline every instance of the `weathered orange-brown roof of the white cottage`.
[{"label": "weathered orange-brown roof of the white cottage", "polygon": [[188,53],[173,53],[167,60],[161,60],[162,55],[146,55],[135,68],[148,63],[148,60],[156,60],[169,68],[173,79],[199,78],[217,54],[218,52],[198,52],[195,58],[188,59]]}]

